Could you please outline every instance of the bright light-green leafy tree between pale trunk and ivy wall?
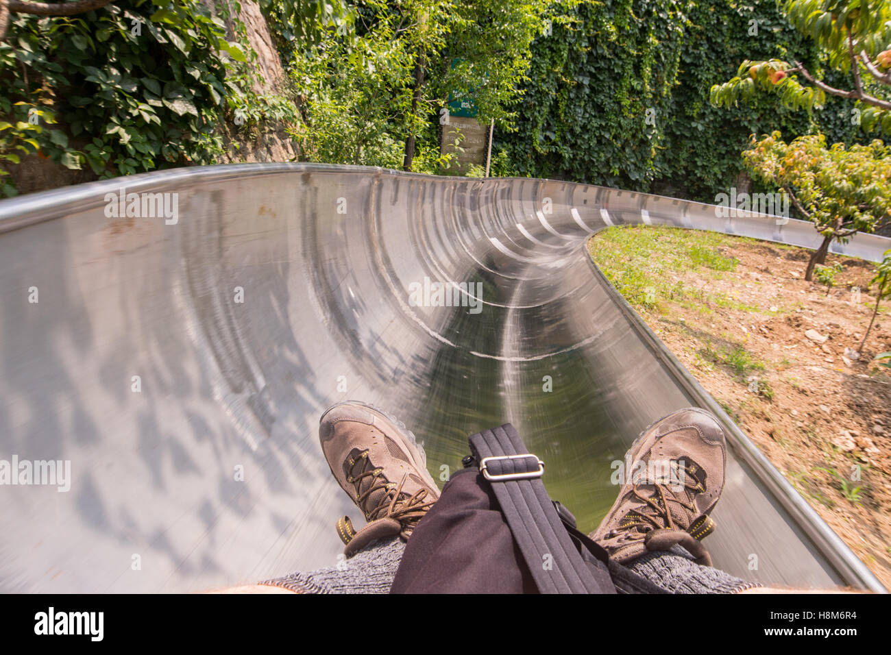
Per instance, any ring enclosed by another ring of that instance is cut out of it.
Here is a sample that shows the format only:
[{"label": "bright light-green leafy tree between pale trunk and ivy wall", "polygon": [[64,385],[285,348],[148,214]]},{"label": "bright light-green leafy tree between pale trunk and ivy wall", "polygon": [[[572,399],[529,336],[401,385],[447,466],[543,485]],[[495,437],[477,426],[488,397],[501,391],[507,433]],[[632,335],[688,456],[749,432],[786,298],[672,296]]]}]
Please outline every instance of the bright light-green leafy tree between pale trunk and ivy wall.
[{"label": "bright light-green leafy tree between pale trunk and ivy wall", "polygon": [[[575,0],[563,0],[570,2]],[[279,0],[276,0],[278,3]],[[310,160],[434,170],[437,118],[470,94],[481,118],[510,127],[529,45],[552,0],[366,0],[351,30],[298,43],[289,61],[301,100],[295,135]],[[402,153],[394,160],[394,146]],[[420,161],[419,161],[420,159]]]}]

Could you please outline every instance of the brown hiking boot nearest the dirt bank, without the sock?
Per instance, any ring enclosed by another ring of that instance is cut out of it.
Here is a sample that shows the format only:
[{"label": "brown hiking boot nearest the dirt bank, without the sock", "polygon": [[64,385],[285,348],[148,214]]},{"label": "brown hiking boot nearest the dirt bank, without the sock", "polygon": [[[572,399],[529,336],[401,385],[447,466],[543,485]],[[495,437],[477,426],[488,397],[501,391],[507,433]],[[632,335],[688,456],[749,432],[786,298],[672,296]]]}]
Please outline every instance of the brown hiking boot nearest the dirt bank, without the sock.
[{"label": "brown hiking boot nearest the dirt bank, without the sock", "polygon": [[625,454],[625,484],[591,538],[619,563],[680,544],[711,566],[699,540],[715,529],[707,513],[723,490],[725,464],[723,429],[711,413],[691,407],[669,414]]}]

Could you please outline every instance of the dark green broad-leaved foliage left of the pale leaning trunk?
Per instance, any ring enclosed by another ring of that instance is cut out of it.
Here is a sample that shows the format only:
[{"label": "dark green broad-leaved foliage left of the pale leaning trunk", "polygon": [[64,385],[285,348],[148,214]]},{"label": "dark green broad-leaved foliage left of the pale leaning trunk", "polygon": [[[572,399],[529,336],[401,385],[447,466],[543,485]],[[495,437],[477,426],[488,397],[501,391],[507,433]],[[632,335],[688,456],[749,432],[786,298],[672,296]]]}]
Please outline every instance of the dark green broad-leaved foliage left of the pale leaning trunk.
[{"label": "dark green broad-leaved foliage left of the pale leaning trunk", "polygon": [[246,44],[238,0],[215,0],[217,16],[200,0],[20,5],[0,41],[0,196],[23,156],[128,175],[214,163],[226,119],[297,119],[257,95],[256,53],[227,40],[228,22]]}]

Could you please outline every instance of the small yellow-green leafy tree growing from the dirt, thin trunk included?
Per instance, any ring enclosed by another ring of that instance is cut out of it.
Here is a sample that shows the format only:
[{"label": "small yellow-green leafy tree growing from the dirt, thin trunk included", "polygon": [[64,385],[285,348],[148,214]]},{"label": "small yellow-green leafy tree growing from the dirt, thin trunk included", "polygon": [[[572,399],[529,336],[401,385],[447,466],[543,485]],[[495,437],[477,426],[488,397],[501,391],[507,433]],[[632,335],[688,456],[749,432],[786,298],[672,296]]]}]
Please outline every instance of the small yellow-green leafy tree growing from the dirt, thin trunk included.
[{"label": "small yellow-green leafy tree growing from the dirt, thin trunk included", "polygon": [[823,264],[833,241],[854,233],[875,232],[891,217],[891,151],[879,140],[870,145],[843,143],[826,147],[824,135],[800,136],[791,143],[780,133],[753,136],[742,153],[754,176],[789,193],[795,208],[823,241],[807,262],[805,280]]}]

